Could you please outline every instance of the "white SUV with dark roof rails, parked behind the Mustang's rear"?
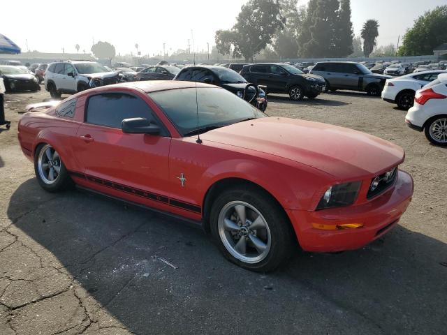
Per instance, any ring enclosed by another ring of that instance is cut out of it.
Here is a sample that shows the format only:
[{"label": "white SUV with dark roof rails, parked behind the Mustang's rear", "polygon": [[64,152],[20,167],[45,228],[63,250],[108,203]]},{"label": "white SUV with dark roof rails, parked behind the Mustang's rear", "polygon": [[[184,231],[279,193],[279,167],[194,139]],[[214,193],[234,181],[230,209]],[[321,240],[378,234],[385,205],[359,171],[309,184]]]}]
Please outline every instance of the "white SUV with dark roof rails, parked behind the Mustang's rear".
[{"label": "white SUV with dark roof rails, parked behind the Mustang's rear", "polygon": [[90,87],[119,82],[119,75],[95,61],[56,61],[45,71],[45,89],[52,98],[75,94]]}]

